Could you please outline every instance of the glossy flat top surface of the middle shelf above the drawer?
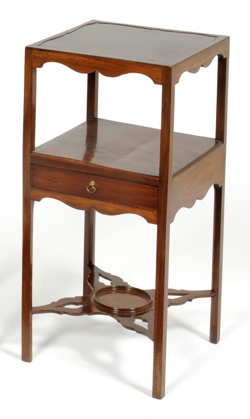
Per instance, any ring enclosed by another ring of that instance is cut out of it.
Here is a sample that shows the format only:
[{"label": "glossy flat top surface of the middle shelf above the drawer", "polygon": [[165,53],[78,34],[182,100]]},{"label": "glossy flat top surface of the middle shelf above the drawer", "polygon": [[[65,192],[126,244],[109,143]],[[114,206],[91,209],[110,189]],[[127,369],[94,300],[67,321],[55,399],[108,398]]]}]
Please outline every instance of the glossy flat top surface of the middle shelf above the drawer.
[{"label": "glossy flat top surface of the middle shelf above the drawer", "polygon": [[[173,174],[220,144],[214,138],[175,132]],[[159,177],[160,129],[90,120],[39,145],[32,153],[37,154]]]}]

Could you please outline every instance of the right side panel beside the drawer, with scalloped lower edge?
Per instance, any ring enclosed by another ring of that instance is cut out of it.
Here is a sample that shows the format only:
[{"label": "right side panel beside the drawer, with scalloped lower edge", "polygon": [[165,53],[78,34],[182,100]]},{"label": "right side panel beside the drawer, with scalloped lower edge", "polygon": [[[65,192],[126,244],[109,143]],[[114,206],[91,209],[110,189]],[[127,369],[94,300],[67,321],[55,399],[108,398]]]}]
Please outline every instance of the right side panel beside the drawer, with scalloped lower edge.
[{"label": "right side panel beside the drawer, with scalloped lower edge", "polygon": [[222,185],[223,145],[173,178],[171,195],[171,222],[176,212],[191,208],[196,199],[203,199],[212,185]]}]

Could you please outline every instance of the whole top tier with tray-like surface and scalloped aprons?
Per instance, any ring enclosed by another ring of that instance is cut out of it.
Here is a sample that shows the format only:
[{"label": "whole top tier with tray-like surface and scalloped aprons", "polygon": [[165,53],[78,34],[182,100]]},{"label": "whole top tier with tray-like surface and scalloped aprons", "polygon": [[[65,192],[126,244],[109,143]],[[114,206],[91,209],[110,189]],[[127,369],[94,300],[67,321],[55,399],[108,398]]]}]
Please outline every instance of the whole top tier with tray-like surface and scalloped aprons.
[{"label": "whole top tier with tray-like surface and scalloped aprons", "polygon": [[[84,34],[93,28],[94,38],[86,42],[79,32]],[[116,35],[111,38],[114,28]],[[103,30],[106,34],[109,31],[108,37],[103,36]],[[162,84],[164,67],[172,67],[174,83],[178,83],[183,72],[197,72],[201,65],[207,67],[218,54],[225,57],[227,46],[227,36],[89,21],[27,48],[32,49],[34,67],[59,62],[78,72],[98,70],[109,77],[135,72]]]}]

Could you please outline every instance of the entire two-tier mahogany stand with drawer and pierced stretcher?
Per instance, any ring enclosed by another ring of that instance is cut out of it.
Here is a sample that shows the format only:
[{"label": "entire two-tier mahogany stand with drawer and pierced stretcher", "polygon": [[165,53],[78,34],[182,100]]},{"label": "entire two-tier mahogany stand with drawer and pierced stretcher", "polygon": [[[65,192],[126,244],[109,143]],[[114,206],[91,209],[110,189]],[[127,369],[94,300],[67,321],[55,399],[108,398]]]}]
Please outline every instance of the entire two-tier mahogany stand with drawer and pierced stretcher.
[{"label": "entire two-tier mahogany stand with drawer and pierced stretcher", "polygon": [[[175,84],[218,55],[216,138],[173,132]],[[229,37],[90,21],[26,47],[23,124],[22,359],[32,357],[32,314],[108,314],[154,341],[153,397],[165,392],[167,309],[211,297],[210,341],[219,341]],[[35,148],[36,68],[58,62],[88,73],[87,118]],[[98,119],[98,72],[147,75],[162,85],[161,129]],[[168,289],[170,223],[214,185],[211,290]],[[32,307],[34,201],[85,210],[83,295]],[[94,265],[95,210],[157,224],[155,290],[139,290]],[[99,277],[108,279],[104,285]],[[176,296],[168,299],[169,295]],[[76,308],[69,308],[75,305]],[[134,323],[148,323],[148,328]]]}]

